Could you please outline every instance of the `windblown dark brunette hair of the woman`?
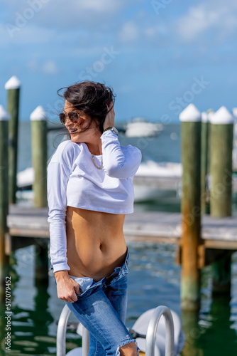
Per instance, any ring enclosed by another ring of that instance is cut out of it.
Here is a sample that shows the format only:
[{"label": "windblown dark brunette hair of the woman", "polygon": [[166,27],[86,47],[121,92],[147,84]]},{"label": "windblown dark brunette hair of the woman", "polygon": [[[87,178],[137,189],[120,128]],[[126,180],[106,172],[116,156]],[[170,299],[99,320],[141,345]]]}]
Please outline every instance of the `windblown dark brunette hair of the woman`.
[{"label": "windblown dark brunette hair of the woman", "polygon": [[[60,94],[60,91],[63,89],[65,89],[65,92]],[[71,103],[77,110],[89,115],[92,120],[97,122],[101,133],[103,132],[103,124],[109,112],[109,104],[111,101],[114,103],[116,96],[112,88],[101,83],[85,81],[60,88],[57,90],[57,94],[65,98],[65,100]],[[85,130],[89,128],[89,125]]]}]

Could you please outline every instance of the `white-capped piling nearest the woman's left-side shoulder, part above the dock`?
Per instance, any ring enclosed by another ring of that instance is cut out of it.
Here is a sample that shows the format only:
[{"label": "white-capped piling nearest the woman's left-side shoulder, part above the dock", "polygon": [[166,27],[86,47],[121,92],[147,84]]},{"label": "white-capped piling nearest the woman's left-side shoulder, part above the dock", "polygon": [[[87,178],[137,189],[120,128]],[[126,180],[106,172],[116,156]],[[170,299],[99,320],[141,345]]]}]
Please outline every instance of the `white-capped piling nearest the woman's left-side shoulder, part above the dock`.
[{"label": "white-capped piling nearest the woman's left-side shoulder, part above the dock", "polygon": [[42,106],[31,114],[32,163],[35,172],[33,182],[34,206],[47,206],[47,121]]}]

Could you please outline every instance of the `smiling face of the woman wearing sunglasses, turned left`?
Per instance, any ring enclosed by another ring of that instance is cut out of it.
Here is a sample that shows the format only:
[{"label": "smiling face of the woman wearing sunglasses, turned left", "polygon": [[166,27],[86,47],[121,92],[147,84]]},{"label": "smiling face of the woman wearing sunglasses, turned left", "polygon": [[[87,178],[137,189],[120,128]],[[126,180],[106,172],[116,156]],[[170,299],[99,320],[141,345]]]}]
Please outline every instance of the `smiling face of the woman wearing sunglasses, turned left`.
[{"label": "smiling face of the woman wearing sunglasses, turned left", "polygon": [[90,138],[92,138],[92,135],[98,135],[99,128],[97,127],[96,122],[92,120],[92,117],[82,111],[75,109],[75,107],[71,103],[65,100],[64,112],[65,114],[68,114],[70,111],[78,112],[80,117],[79,122],[77,122],[76,124],[70,121],[68,117],[65,121],[65,126],[67,127],[67,130],[70,133],[72,142],[88,142]]}]

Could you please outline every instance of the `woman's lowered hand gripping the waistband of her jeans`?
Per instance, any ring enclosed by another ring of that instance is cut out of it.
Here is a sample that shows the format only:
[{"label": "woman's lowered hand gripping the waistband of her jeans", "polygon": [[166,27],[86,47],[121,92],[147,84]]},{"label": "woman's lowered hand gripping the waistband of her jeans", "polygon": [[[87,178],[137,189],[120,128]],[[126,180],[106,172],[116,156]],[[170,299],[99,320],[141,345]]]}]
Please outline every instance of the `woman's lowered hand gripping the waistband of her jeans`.
[{"label": "woman's lowered hand gripping the waistband of her jeans", "polygon": [[76,302],[77,294],[81,294],[79,284],[66,271],[55,272],[55,279],[57,282],[57,298],[65,300],[67,303]]}]

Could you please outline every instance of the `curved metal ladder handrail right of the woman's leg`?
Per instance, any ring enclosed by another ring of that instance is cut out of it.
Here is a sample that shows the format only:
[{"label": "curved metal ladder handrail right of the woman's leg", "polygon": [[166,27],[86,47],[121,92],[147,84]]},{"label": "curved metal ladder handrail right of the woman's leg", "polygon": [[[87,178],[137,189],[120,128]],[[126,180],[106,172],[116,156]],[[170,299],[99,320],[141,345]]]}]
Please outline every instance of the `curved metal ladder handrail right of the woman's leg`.
[{"label": "curved metal ladder handrail right of the woman's leg", "polygon": [[174,323],[170,309],[164,305],[155,308],[145,338],[145,356],[155,355],[155,336],[161,315],[165,317],[165,356],[175,355]]}]

